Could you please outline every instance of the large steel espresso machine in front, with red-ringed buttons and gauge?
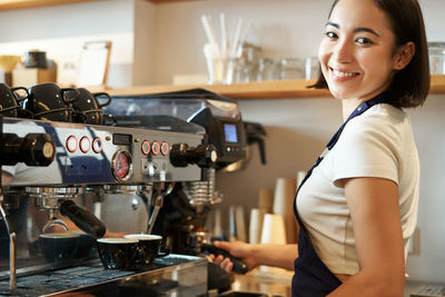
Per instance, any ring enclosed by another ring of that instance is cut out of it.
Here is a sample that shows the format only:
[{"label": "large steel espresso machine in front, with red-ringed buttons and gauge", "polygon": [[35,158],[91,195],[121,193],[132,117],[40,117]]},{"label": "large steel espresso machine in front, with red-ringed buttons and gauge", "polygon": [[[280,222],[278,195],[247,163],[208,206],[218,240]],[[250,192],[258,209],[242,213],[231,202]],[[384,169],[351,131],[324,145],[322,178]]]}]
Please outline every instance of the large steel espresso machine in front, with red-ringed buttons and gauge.
[{"label": "large steel espresso machine in front, with red-ringed buttons and gauge", "polygon": [[79,90],[55,85],[36,86],[24,99],[7,92],[19,103],[0,109],[17,111],[0,122],[0,296],[205,296],[202,257],[172,250],[144,269],[120,270],[105,269],[95,250],[96,238],[121,231],[112,222],[132,232],[136,210],[147,210],[137,226],[151,232],[180,187],[205,188],[194,196],[200,209],[214,202],[201,197],[212,189],[218,152],[202,127],[109,126],[107,118],[117,119],[99,103],[79,110]]}]

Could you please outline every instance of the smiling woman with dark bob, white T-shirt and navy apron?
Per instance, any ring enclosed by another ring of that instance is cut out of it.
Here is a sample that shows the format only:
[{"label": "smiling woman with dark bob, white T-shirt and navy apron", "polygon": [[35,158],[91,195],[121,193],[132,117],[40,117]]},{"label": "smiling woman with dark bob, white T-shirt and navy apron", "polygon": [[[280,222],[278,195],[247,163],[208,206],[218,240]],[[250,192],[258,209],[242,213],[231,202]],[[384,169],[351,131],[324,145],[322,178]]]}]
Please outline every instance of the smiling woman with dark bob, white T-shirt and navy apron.
[{"label": "smiling woman with dark bob, white T-shirt and navy apron", "polygon": [[[296,245],[215,242],[258,265],[295,269],[293,296],[403,296],[419,165],[403,108],[429,88],[417,0],[336,0],[319,47],[322,76],[344,125],[299,187]],[[295,260],[295,263],[294,263]],[[231,271],[229,259],[214,261]]]}]

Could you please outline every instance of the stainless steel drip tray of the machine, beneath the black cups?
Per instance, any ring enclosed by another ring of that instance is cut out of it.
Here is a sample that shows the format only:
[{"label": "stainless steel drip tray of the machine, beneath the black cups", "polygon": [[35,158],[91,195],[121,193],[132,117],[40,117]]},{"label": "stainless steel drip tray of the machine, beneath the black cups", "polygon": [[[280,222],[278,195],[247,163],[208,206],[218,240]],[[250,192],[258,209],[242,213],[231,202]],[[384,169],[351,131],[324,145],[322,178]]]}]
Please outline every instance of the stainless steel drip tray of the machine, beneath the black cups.
[{"label": "stainless steel drip tray of the machine, beneath the black cups", "polygon": [[[10,296],[0,279],[0,296]],[[138,270],[105,269],[92,260],[75,267],[18,277],[17,296],[128,296],[117,293],[139,289],[147,296],[199,296],[207,291],[207,260],[168,255]],[[105,294],[105,293],[109,294]],[[157,293],[157,295],[150,295]],[[89,295],[90,294],[90,295]]]}]

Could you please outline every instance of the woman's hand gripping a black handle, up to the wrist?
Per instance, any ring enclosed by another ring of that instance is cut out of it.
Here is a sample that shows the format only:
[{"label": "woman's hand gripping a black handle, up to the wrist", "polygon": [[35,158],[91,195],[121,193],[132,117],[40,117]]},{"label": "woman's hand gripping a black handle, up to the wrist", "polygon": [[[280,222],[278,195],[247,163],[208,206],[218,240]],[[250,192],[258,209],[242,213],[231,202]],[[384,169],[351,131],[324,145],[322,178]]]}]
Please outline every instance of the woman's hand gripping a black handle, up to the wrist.
[{"label": "woman's hand gripping a black handle, up to the wrist", "polygon": [[[257,267],[258,264],[255,259],[254,246],[243,241],[214,241],[214,246],[228,251],[234,257],[240,259],[247,265],[247,268],[251,270]],[[228,258],[224,258],[221,255],[215,257],[210,255],[210,258],[216,265],[219,265],[226,273],[233,273],[234,264]]]}]

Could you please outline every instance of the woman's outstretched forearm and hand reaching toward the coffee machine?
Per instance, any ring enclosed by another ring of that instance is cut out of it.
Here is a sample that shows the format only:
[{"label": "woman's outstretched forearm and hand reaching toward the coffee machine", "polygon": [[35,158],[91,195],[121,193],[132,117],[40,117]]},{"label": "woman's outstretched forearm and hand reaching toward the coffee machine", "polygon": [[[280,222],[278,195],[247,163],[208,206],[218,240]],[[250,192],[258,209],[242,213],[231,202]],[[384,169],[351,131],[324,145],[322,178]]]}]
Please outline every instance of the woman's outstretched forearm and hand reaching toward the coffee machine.
[{"label": "woman's outstretched forearm and hand reaching toward the coffee machine", "polygon": [[[215,241],[214,244],[216,247],[222,248],[233,256],[240,258],[246,263],[249,270],[259,265],[293,270],[294,260],[297,257],[297,245],[250,245],[241,241]],[[234,268],[234,264],[228,258],[224,258],[222,256],[214,258],[214,263],[219,265],[227,273],[230,273]]]}]

